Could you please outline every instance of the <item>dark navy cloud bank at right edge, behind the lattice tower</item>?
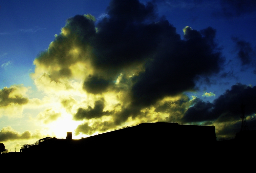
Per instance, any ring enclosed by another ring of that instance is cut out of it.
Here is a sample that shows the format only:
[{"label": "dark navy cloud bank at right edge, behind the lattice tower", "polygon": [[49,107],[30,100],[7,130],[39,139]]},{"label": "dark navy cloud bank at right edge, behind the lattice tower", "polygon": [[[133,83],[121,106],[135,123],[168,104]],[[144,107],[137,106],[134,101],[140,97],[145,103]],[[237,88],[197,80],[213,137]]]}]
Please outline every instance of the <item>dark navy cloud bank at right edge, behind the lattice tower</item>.
[{"label": "dark navy cloud bank at right edge, behind the lattice tower", "polygon": [[[256,86],[242,84],[233,85],[223,95],[212,103],[194,100],[194,106],[188,108],[183,121],[185,122],[235,122],[241,116],[241,104],[245,105],[245,114],[251,116],[256,113]],[[255,126],[255,125],[254,125]]]}]

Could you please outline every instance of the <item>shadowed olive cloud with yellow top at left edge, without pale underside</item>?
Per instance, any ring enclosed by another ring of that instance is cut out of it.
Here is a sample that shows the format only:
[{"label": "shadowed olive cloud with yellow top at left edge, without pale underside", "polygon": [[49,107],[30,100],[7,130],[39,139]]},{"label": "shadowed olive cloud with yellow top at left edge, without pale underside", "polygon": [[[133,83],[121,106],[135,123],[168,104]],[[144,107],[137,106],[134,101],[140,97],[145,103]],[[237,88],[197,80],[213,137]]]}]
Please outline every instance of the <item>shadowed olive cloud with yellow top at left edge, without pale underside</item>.
[{"label": "shadowed olive cloud with yellow top at left edge, without pale underside", "polygon": [[4,87],[0,90],[0,107],[11,104],[25,105],[29,99],[22,93],[21,86]]}]

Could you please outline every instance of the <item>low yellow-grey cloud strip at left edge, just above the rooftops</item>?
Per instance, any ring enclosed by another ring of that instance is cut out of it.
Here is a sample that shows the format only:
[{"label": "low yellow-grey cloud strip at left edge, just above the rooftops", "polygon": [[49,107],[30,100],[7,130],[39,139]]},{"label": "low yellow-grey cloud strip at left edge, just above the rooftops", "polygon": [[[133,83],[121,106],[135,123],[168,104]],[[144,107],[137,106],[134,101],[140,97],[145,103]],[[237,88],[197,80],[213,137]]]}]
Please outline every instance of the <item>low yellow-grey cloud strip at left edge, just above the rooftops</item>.
[{"label": "low yellow-grey cloud strip at left edge, just above the rooftops", "polygon": [[11,140],[23,140],[23,139],[38,139],[42,138],[42,134],[39,130],[32,133],[29,130],[20,133],[11,128],[11,126],[3,127],[0,131],[0,141],[11,141]]}]

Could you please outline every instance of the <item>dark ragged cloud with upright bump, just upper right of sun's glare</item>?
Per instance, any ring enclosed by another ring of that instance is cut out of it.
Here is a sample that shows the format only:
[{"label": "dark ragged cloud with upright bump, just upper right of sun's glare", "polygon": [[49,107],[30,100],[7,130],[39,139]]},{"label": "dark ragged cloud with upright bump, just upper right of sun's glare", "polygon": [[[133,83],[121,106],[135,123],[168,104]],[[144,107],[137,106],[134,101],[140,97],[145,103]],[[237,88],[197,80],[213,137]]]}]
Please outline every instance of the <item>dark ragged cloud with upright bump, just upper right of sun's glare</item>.
[{"label": "dark ragged cloud with upright bump, just upper right of sun's glare", "polygon": [[76,114],[74,115],[74,120],[83,120],[83,119],[92,119],[92,118],[100,118],[103,115],[109,115],[111,112],[103,111],[105,106],[105,100],[101,98],[94,103],[94,107],[88,106],[85,108],[78,108]]}]

